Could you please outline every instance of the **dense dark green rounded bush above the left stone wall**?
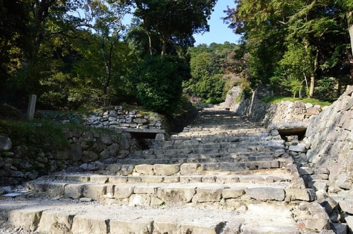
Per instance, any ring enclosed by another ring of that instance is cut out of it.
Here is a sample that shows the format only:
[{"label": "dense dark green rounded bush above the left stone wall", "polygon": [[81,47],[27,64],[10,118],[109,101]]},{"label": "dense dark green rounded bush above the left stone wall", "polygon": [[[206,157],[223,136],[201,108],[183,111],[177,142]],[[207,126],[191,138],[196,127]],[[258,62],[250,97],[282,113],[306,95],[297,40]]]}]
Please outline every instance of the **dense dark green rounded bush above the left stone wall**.
[{"label": "dense dark green rounded bush above the left stone wall", "polygon": [[178,59],[148,56],[137,72],[137,98],[153,111],[171,114],[180,103],[181,85],[188,74],[190,71]]}]

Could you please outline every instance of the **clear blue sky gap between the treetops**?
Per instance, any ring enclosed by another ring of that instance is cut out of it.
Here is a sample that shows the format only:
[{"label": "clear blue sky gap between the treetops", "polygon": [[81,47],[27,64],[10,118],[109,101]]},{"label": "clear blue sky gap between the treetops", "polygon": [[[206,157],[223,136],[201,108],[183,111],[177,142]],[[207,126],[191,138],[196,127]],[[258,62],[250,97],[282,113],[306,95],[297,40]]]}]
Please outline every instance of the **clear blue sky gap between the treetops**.
[{"label": "clear blue sky gap between the treetops", "polygon": [[223,19],[221,17],[225,17],[226,14],[223,12],[227,9],[227,5],[230,7],[235,7],[234,0],[218,0],[214,12],[211,15],[211,19],[208,24],[210,25],[210,31],[201,34],[195,34],[195,46],[198,44],[210,44],[212,42],[216,43],[224,43],[225,41],[237,43],[239,40],[239,36],[234,34],[232,29],[228,28],[227,24],[223,24]]}]

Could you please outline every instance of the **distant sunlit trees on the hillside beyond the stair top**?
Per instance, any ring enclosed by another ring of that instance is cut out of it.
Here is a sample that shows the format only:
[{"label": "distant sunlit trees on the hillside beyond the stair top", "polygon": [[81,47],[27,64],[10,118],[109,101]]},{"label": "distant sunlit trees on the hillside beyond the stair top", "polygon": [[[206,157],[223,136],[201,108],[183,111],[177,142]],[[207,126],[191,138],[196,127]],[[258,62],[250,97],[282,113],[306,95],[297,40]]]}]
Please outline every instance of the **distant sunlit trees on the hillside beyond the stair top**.
[{"label": "distant sunlit trees on the hillside beyond the stair top", "polygon": [[190,48],[190,80],[184,88],[206,103],[220,103],[234,84],[244,84],[248,63],[241,46],[229,42],[224,44],[201,44]]}]

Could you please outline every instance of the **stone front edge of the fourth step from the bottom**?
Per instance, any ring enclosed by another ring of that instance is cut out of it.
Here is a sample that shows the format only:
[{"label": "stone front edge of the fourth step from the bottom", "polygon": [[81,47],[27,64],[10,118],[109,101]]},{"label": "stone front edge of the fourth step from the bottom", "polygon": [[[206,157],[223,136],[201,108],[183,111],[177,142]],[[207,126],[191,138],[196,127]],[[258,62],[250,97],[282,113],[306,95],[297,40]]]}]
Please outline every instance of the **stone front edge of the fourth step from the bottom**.
[{"label": "stone front edge of the fourth step from the bottom", "polygon": [[[116,172],[116,175],[132,175],[133,172],[140,175],[194,175],[203,171],[239,172],[257,169],[280,168],[283,162],[280,160],[236,162],[236,163],[182,163],[182,164],[99,164],[98,170]],[[89,171],[89,168],[87,168]]]}]

